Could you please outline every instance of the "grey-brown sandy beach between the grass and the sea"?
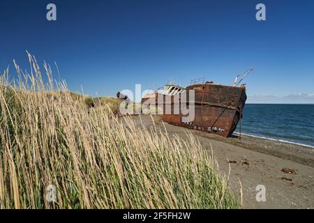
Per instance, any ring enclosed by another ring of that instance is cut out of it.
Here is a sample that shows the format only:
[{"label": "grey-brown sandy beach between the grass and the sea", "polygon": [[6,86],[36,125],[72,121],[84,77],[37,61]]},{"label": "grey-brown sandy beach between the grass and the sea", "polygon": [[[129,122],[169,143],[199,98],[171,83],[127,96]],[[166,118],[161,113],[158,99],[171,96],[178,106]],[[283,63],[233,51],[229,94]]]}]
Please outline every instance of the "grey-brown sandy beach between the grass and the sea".
[{"label": "grey-brown sandy beach between the grass and the sea", "polygon": [[[155,123],[161,131],[179,137],[193,134],[209,154],[214,153],[220,171],[226,175],[230,171],[230,189],[240,200],[242,194],[244,208],[314,207],[313,148],[245,135],[240,140],[237,134],[223,138],[163,123],[159,116],[132,118],[138,125],[153,128]],[[266,201],[256,201],[257,185],[266,188]]]}]

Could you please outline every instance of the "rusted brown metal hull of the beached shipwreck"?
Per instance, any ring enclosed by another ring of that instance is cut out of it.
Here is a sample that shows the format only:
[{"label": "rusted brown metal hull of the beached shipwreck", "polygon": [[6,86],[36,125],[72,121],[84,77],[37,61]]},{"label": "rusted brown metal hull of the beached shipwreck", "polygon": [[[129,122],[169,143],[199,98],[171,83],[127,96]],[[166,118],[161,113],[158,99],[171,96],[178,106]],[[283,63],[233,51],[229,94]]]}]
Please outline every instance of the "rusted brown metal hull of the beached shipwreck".
[{"label": "rusted brown metal hull of the beached shipwreck", "polygon": [[[190,101],[190,90],[195,92],[195,100]],[[185,128],[202,130],[219,134],[223,137],[230,137],[232,132],[237,128],[237,124],[241,118],[242,111],[246,102],[245,86],[234,87],[218,84],[204,83],[195,84],[186,88],[186,100],[183,101],[179,95],[178,98],[165,99],[165,95],[156,93],[153,99],[158,105],[158,98],[163,97],[163,121],[172,125],[179,125]],[[143,98],[142,102],[146,102],[148,98]],[[150,98],[150,103],[153,101]],[[181,106],[185,102],[188,109],[194,109],[193,121],[184,121],[184,117],[188,115],[179,114],[174,111],[174,107]],[[160,105],[158,105],[160,107]],[[171,107],[171,112],[166,111],[166,106]],[[169,114],[170,113],[170,114]]]}]

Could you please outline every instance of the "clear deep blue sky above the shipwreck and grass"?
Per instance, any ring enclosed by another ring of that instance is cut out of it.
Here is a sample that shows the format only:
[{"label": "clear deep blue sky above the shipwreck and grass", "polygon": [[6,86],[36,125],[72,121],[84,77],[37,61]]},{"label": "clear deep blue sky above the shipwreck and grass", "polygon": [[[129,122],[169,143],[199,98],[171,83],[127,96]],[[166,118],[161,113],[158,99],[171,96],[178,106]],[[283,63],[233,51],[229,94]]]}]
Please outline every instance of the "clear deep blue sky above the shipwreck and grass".
[{"label": "clear deep blue sky above the shipwreck and grass", "polygon": [[[46,20],[47,3],[57,21]],[[267,21],[255,20],[264,3]],[[248,95],[314,93],[314,1],[1,1],[0,69],[57,61],[68,88],[95,95],[185,85],[232,84],[252,66]],[[54,77],[57,71],[54,69]]]}]

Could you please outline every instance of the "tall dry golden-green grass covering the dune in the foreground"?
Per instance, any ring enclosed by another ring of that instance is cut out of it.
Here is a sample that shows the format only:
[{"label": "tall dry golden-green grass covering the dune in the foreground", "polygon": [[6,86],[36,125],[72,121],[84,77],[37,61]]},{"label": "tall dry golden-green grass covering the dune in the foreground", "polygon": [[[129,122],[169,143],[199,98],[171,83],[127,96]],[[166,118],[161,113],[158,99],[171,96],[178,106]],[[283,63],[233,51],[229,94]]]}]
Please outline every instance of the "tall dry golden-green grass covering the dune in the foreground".
[{"label": "tall dry golden-green grass covering the dune in the foreground", "polygon": [[[0,208],[238,208],[214,160],[33,75],[0,79]],[[114,100],[103,100],[109,107]],[[116,101],[117,102],[117,101]],[[46,199],[48,185],[57,200]]]}]

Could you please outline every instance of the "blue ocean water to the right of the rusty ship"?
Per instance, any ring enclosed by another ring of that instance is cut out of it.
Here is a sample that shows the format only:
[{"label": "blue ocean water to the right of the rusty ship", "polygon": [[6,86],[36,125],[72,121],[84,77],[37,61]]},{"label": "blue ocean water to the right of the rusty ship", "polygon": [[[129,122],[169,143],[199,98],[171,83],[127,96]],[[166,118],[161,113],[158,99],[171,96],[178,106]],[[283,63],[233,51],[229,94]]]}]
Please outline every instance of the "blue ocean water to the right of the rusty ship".
[{"label": "blue ocean water to the right of the rusty ship", "polygon": [[246,104],[243,115],[244,134],[314,148],[314,105]]}]

